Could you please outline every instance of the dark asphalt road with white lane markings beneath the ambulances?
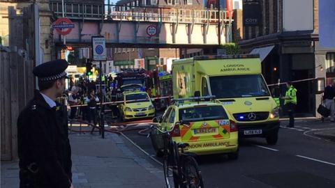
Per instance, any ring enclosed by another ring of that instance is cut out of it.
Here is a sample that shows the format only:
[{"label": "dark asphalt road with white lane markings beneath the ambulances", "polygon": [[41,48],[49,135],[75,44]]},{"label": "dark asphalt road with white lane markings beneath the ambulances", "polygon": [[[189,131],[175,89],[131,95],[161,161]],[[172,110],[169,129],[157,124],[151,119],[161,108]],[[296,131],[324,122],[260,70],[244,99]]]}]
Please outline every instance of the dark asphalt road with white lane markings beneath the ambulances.
[{"label": "dark asphalt road with white lane markings beneath the ambulances", "polygon": [[[304,122],[296,127],[282,126],[276,146],[267,146],[265,139],[241,140],[235,161],[225,155],[198,157],[205,187],[334,188],[335,143],[304,135],[309,129]],[[154,157],[147,137],[137,131],[124,134]]]}]

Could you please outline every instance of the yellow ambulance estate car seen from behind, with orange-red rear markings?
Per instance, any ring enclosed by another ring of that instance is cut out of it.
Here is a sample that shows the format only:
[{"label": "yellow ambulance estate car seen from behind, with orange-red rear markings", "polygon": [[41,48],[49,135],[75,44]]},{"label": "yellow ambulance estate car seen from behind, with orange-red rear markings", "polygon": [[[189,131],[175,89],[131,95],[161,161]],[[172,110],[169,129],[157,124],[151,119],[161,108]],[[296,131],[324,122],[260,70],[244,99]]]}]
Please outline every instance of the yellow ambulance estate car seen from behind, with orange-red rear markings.
[{"label": "yellow ambulance estate car seen from behind, with orange-red rear markings", "polygon": [[[188,152],[196,155],[227,153],[230,159],[237,159],[239,155],[237,126],[230,114],[226,113],[223,104],[212,100],[213,97],[176,99],[162,117],[154,118],[153,121],[158,123],[159,129],[168,130],[173,141],[188,143]],[[211,101],[208,101],[209,99]],[[159,133],[156,130],[153,134]],[[163,136],[153,138],[151,141],[154,149],[157,155],[161,155],[161,148],[155,146],[163,143],[160,140]]]}]

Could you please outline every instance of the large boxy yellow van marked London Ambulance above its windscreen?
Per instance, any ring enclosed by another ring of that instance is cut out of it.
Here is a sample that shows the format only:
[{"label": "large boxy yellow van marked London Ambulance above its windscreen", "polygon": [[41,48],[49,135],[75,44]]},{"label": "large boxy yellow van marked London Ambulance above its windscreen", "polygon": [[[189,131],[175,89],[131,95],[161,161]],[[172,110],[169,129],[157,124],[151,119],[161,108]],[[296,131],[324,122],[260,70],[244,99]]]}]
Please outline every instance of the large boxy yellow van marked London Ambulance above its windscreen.
[{"label": "large boxy yellow van marked London Ambulance above its windscreen", "polygon": [[172,63],[174,99],[215,95],[236,122],[239,137],[278,141],[278,106],[258,55],[195,56]]}]

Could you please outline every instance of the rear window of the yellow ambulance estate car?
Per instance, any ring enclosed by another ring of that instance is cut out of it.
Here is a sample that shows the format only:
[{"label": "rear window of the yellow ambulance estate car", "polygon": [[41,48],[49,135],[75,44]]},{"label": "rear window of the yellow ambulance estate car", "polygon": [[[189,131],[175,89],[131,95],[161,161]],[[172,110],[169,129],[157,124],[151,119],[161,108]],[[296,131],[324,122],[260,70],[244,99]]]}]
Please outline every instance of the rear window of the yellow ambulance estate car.
[{"label": "rear window of the yellow ambulance estate car", "polygon": [[183,123],[199,120],[224,120],[228,119],[225,109],[221,105],[189,107],[179,109],[179,121]]}]

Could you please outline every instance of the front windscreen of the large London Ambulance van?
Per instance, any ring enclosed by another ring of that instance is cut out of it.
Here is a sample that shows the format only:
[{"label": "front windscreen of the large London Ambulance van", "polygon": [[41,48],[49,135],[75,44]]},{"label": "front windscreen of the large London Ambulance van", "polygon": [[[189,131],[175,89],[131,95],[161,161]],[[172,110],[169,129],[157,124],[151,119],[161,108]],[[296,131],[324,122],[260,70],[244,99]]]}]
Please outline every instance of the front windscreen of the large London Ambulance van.
[{"label": "front windscreen of the large London Ambulance van", "polygon": [[217,98],[269,96],[261,75],[232,75],[209,77],[211,95]]}]

